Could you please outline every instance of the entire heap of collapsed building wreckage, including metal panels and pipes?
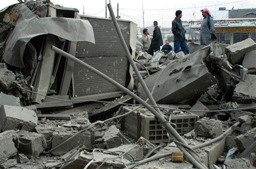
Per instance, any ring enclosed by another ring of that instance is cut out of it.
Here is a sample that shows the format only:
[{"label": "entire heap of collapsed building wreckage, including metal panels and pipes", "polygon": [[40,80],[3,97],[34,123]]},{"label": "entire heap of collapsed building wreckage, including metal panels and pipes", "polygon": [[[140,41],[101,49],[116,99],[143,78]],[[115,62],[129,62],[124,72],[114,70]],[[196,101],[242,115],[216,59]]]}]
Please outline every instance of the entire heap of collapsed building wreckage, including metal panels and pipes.
[{"label": "entire heap of collapsed building wreckage, including metal panels and pipes", "polygon": [[256,43],[151,56],[108,7],[0,11],[0,167],[255,167]]}]

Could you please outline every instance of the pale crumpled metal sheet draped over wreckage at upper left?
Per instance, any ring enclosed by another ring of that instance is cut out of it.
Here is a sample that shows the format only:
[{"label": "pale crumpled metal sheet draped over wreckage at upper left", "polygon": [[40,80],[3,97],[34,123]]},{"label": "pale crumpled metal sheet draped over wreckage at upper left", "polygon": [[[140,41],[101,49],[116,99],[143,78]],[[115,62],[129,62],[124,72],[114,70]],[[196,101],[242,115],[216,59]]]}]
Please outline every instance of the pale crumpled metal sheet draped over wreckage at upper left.
[{"label": "pale crumpled metal sheet draped over wreckage at upper left", "polygon": [[41,34],[54,34],[70,41],[89,41],[95,43],[93,29],[88,20],[42,17],[36,18],[25,4],[18,4],[18,19],[10,33],[3,60],[13,66],[23,68],[23,52],[32,37]]}]

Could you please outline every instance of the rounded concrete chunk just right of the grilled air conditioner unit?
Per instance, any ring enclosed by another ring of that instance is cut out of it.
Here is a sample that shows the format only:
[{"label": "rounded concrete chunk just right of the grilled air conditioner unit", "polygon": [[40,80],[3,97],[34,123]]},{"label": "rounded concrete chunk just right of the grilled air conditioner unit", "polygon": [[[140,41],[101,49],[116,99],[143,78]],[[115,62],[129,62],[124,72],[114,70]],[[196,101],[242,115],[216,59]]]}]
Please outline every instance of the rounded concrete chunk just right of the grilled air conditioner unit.
[{"label": "rounded concrete chunk just right of the grilled air conditioner unit", "polygon": [[194,123],[194,132],[198,136],[217,137],[222,131],[220,120],[203,117]]}]

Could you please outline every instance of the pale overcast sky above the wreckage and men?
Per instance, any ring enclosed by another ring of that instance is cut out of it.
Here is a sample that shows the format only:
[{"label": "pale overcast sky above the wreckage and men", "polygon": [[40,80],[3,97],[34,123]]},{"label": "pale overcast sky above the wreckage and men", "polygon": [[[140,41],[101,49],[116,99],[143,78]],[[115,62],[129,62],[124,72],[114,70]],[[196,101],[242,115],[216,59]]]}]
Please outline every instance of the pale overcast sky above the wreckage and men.
[{"label": "pale overcast sky above the wreckage and men", "polygon": [[[0,9],[17,2],[17,0],[0,0]],[[83,13],[84,8],[86,15],[105,17],[105,0],[51,0],[51,2],[64,7],[77,8],[79,14]],[[139,27],[143,27],[142,3],[145,27],[152,25],[154,20],[158,21],[159,26],[170,27],[177,9],[182,10],[182,20],[191,20],[200,19],[200,9],[204,7],[207,7],[213,15],[218,7],[226,7],[226,9],[256,7],[256,0],[111,0],[110,2],[115,15],[119,3],[121,18],[132,20]],[[107,16],[109,17],[108,10]]]}]

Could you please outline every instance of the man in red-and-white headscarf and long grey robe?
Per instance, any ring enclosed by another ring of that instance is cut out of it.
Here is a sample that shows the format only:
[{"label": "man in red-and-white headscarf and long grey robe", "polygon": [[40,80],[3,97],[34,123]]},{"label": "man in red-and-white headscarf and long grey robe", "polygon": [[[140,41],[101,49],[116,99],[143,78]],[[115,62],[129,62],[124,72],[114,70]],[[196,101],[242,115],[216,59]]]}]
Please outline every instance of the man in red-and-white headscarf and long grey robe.
[{"label": "man in red-and-white headscarf and long grey robe", "polygon": [[215,29],[214,29],[214,21],[211,17],[211,13],[207,8],[200,10],[202,12],[202,22],[201,27],[196,27],[195,30],[200,30],[200,44],[208,45],[212,42],[212,40],[216,39]]}]

